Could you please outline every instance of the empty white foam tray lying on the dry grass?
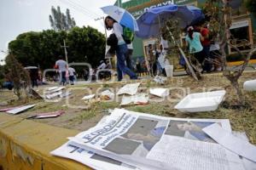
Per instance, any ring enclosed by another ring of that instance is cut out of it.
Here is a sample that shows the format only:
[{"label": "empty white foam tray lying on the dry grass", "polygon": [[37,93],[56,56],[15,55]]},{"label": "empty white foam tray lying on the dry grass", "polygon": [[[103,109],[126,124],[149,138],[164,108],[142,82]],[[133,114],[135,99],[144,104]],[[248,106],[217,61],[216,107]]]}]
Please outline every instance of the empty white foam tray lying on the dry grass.
[{"label": "empty white foam tray lying on the dry grass", "polygon": [[215,111],[226,94],[225,90],[189,94],[183,98],[175,109],[182,112]]}]

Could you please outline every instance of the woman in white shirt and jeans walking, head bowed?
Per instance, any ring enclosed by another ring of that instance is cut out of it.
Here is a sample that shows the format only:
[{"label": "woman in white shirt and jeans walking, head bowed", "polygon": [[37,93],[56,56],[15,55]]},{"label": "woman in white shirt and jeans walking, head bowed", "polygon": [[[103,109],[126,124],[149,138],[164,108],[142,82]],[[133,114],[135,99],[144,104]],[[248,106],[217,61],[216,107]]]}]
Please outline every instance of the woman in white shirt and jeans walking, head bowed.
[{"label": "woman in white shirt and jeans walking, head bowed", "polygon": [[125,54],[127,53],[128,48],[122,36],[123,27],[110,16],[105,18],[105,26],[107,30],[113,29],[113,33],[118,39],[118,46],[116,49],[118,81],[123,79],[123,72],[129,75],[131,79],[137,79],[136,74],[125,65]]}]

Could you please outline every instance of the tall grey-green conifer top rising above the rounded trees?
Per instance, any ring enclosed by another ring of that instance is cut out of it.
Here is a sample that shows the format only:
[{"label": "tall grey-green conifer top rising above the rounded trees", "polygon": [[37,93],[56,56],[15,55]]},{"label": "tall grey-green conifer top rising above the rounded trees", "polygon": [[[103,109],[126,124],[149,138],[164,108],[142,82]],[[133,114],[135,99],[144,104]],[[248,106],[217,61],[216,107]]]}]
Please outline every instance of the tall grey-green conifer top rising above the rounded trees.
[{"label": "tall grey-green conifer top rising above the rounded trees", "polygon": [[70,11],[67,8],[66,15],[61,13],[61,8],[51,7],[51,14],[49,15],[50,26],[55,31],[69,31],[76,26],[74,18],[71,17]]}]

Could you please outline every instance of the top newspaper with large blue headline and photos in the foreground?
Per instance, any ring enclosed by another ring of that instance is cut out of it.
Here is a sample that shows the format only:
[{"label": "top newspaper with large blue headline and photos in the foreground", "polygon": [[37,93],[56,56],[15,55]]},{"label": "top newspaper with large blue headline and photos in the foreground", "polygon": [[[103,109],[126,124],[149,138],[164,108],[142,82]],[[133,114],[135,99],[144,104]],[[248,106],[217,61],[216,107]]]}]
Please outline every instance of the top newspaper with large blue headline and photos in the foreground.
[{"label": "top newspaper with large blue headline and photos in the foreground", "polygon": [[104,123],[69,139],[84,150],[141,169],[244,169],[239,156],[202,131],[213,123],[231,132],[226,119],[181,119],[115,109]]}]

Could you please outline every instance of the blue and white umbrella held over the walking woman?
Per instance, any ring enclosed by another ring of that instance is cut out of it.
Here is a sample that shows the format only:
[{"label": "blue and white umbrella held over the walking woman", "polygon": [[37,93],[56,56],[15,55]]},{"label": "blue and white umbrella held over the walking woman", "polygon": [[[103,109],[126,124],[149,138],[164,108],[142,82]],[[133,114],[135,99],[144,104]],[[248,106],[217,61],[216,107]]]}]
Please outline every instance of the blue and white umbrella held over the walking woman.
[{"label": "blue and white umbrella held over the walking woman", "polygon": [[120,25],[130,28],[132,31],[139,31],[137,20],[124,8],[110,5],[102,7],[102,10],[105,14],[111,16],[113,20],[119,22]]}]

